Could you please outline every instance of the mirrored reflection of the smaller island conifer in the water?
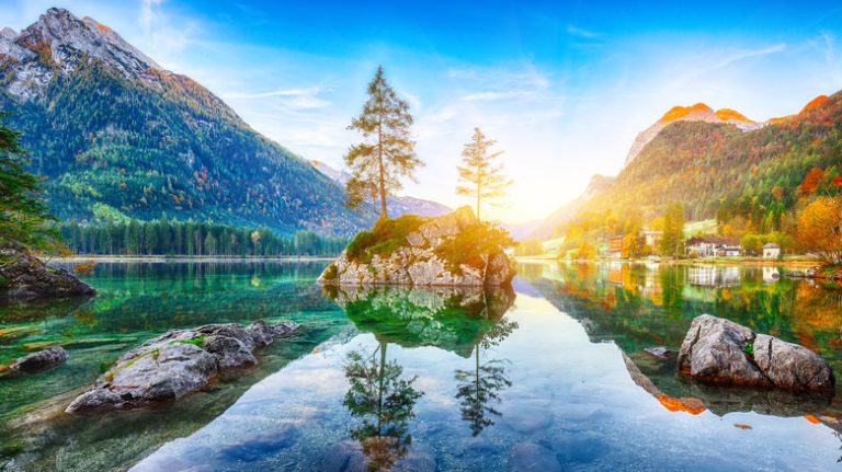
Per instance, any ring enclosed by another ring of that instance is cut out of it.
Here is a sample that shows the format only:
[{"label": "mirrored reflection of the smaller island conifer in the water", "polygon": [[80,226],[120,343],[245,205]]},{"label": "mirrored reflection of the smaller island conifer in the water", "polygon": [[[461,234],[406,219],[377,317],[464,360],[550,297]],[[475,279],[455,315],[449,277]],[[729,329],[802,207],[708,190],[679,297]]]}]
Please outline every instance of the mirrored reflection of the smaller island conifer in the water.
[{"label": "mirrored reflection of the smaller island conifer in the water", "polygon": [[508,361],[492,359],[480,365],[479,350],[496,346],[516,329],[517,323],[505,319],[500,320],[475,346],[474,371],[456,370],[456,380],[459,381],[456,398],[462,400],[462,419],[468,422],[474,436],[494,424],[490,415],[501,415],[494,408],[494,403],[500,403],[499,392],[512,385],[512,381],[505,376]]}]

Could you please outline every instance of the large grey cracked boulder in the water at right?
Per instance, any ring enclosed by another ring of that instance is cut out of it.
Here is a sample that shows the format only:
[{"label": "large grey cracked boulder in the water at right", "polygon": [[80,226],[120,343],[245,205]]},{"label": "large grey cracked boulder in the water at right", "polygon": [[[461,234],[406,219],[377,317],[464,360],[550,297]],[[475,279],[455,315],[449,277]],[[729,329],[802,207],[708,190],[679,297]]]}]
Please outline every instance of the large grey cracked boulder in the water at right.
[{"label": "large grey cracked boulder in the water at right", "polygon": [[708,383],[827,391],[833,372],[816,353],[731,321],[696,316],[679,352],[678,368]]}]

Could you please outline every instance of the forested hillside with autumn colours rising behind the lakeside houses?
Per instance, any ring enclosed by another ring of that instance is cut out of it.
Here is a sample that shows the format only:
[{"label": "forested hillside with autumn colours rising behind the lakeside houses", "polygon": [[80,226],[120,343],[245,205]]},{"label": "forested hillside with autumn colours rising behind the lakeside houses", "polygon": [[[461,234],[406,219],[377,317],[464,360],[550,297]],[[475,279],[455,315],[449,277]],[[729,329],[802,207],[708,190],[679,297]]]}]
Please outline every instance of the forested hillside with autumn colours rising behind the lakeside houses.
[{"label": "forested hillside with autumn colours rising behind the lakeside houses", "polygon": [[692,220],[739,217],[758,231],[783,230],[788,211],[842,192],[840,142],[842,92],[753,130],[673,120],[579,215],[611,209],[650,219],[681,200]]}]

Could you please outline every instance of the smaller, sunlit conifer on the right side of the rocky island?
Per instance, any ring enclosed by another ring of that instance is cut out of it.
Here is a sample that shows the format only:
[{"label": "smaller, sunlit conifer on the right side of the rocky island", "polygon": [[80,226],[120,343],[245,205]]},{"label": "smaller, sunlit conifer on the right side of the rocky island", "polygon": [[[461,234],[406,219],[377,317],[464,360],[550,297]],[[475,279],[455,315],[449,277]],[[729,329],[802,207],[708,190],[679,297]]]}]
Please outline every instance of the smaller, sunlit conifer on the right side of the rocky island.
[{"label": "smaller, sunlit conifer on the right side of the rocky island", "polygon": [[459,183],[456,186],[457,195],[475,197],[477,200],[477,219],[480,219],[480,210],[483,200],[500,198],[505,195],[505,189],[512,181],[503,175],[503,166],[494,164],[503,151],[491,151],[497,143],[489,139],[479,128],[474,128],[474,136],[462,150],[462,164]]}]

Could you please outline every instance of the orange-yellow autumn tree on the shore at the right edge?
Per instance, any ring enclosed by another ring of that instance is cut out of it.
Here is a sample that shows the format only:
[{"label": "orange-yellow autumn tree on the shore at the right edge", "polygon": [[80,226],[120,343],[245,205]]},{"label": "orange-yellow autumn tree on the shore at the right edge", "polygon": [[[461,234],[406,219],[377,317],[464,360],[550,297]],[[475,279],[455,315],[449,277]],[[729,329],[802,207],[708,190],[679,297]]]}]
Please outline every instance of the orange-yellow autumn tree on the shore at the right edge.
[{"label": "orange-yellow autumn tree on the shore at the right edge", "polygon": [[842,261],[842,198],[818,197],[804,209],[798,243],[823,265]]}]

